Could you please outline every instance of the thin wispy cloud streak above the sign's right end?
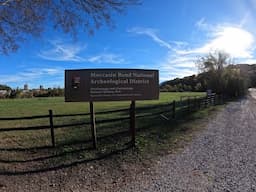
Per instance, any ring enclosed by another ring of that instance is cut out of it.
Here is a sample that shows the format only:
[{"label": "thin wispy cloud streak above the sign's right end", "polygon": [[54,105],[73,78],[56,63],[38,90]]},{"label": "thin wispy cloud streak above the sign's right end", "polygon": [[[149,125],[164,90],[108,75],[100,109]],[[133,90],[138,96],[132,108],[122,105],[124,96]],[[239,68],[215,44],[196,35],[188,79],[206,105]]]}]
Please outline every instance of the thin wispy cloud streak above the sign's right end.
[{"label": "thin wispy cloud streak above the sign's right end", "polygon": [[143,27],[134,27],[128,30],[129,33],[135,33],[138,35],[147,35],[149,36],[153,41],[155,41],[156,43],[158,43],[160,46],[162,47],[166,47],[167,49],[172,50],[172,46],[162,40],[161,38],[158,37],[158,35],[156,34],[156,29],[153,28],[143,28]]}]

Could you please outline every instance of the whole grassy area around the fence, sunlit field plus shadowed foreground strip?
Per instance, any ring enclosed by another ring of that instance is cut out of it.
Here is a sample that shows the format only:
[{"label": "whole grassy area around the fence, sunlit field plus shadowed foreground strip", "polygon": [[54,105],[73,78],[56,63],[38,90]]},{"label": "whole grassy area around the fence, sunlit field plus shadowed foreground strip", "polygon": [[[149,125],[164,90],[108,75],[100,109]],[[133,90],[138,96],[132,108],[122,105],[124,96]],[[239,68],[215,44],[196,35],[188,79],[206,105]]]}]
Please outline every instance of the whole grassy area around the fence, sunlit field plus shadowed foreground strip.
[{"label": "whole grassy area around the fence, sunlit field plus shadowed foreground strip", "polygon": [[[180,100],[181,96],[204,96],[205,93],[161,93],[160,99],[156,101],[138,101],[137,106],[149,106],[153,104],[170,103]],[[128,108],[130,102],[97,102],[97,111]],[[33,98],[0,100],[0,117],[21,117],[32,115],[46,115],[49,109],[54,114],[73,114],[88,112],[88,103],[65,103],[64,98]],[[204,111],[196,114],[202,115]],[[98,115],[97,120],[118,118],[128,116],[128,112],[120,112],[108,115]],[[88,122],[89,117],[65,117],[54,118],[54,124]],[[49,120],[18,120],[0,121],[1,128],[26,127],[36,125],[48,125]],[[0,132],[0,172],[23,172],[33,170],[44,170],[60,165],[69,165],[84,162],[101,155],[118,151],[130,141],[127,135],[129,121],[96,124],[98,136],[98,149],[91,148],[90,126],[74,126],[55,130],[56,148],[50,148],[50,130]],[[166,121],[160,116],[139,118],[136,121],[137,147],[141,151],[146,148],[157,148],[166,139],[177,139],[180,135],[179,127],[175,122]],[[181,128],[182,130],[184,128]],[[178,131],[177,131],[178,130]],[[4,162],[4,163],[1,163]],[[15,171],[13,170],[15,163]]]}]

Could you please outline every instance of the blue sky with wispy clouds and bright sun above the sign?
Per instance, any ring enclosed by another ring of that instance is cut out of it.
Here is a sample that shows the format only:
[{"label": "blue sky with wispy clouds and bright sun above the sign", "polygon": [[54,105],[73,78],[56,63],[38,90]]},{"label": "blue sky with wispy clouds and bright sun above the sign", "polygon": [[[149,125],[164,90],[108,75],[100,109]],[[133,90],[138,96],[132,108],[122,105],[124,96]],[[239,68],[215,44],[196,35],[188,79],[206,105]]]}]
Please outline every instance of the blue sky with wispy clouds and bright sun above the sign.
[{"label": "blue sky with wispy clouds and bright sun above the sign", "polygon": [[256,63],[256,0],[143,0],[115,28],[76,39],[50,28],[0,55],[0,84],[64,87],[65,69],[158,69],[160,82],[197,74],[196,60],[216,50]]}]

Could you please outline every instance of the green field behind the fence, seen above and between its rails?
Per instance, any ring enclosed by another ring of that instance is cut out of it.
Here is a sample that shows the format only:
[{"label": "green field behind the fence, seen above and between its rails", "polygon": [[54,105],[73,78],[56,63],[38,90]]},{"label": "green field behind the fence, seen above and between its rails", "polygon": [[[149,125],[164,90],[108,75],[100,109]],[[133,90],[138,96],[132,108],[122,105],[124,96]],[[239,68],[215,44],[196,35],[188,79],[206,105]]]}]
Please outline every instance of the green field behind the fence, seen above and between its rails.
[{"label": "green field behind the fence, seen above and between its rails", "polygon": [[[182,93],[161,93],[159,100],[137,101],[136,106],[150,106],[155,104],[170,103],[173,100],[180,100],[181,96],[204,96],[205,93],[195,92],[182,92]],[[113,109],[128,108],[130,102],[95,102],[95,111],[107,111]],[[64,102],[63,97],[52,98],[32,98],[32,99],[5,99],[0,100],[0,117],[23,117],[34,115],[47,115],[48,110],[52,109],[54,114],[75,114],[75,113],[87,113],[89,112],[88,102]],[[96,120],[111,119],[119,117],[127,117],[128,112],[123,113],[111,113],[104,115],[97,115]],[[149,119],[150,120],[150,119]],[[143,120],[140,120],[143,121]],[[147,120],[148,121],[148,120]],[[77,116],[77,117],[65,117],[54,118],[55,125],[89,122],[89,116]],[[109,135],[111,133],[127,131],[129,128],[129,122],[117,122],[109,124],[97,124],[98,136]],[[1,121],[1,128],[15,128],[15,127],[27,127],[49,125],[49,120],[45,119],[33,119],[33,120],[15,120],[15,121]],[[143,125],[142,125],[143,126]],[[110,127],[110,128],[109,128]],[[78,142],[90,139],[90,127],[88,126],[76,126],[71,128],[58,129],[56,132],[57,144],[64,144],[65,142]],[[2,136],[1,136],[2,135]],[[24,132],[8,132],[0,135],[0,147],[1,144],[8,143],[8,146],[41,146],[50,145],[50,135],[48,130],[42,131],[24,131]],[[6,139],[11,139],[14,142],[6,142]]]}]

